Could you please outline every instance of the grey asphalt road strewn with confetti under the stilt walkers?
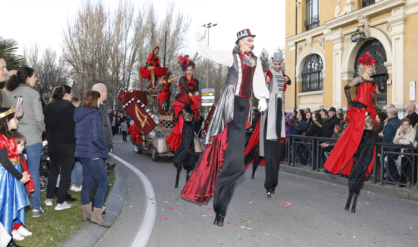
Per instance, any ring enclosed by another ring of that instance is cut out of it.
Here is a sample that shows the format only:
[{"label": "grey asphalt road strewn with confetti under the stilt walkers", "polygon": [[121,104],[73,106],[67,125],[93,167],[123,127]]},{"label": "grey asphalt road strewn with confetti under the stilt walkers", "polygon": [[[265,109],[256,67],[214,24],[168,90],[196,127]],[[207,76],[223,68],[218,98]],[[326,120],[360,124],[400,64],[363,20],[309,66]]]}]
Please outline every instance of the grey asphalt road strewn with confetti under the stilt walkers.
[{"label": "grey asphalt road strewn with confetti under the stilt walkers", "polygon": [[[115,136],[117,139],[119,135]],[[121,138],[120,138],[121,139]],[[136,154],[130,142],[115,143],[112,152],[142,172],[155,198],[147,197],[138,175],[118,162],[128,179],[125,207],[95,246],[136,246],[142,229],[151,229],[146,246],[415,246],[418,202],[363,190],[356,213],[344,210],[347,186],[279,172],[278,187],[267,198],[264,167],[251,179],[250,166],[238,181],[223,227],[213,225],[212,200],[199,205],[180,196],[186,173],[174,188],[172,159],[153,162]],[[150,200],[152,199],[152,200]],[[280,206],[288,202],[292,206]],[[152,204],[150,204],[152,203]],[[132,207],[131,207],[132,206]],[[148,206],[155,219],[143,225]]]}]

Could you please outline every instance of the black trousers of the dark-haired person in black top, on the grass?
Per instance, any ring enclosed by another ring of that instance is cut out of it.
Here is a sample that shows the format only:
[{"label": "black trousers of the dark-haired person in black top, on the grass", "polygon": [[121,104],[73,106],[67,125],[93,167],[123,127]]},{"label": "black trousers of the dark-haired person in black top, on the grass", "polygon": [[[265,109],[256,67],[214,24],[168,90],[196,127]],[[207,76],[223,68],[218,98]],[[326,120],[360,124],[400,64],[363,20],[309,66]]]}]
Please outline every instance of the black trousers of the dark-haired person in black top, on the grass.
[{"label": "black trousers of the dark-haired person in black top, on the grass", "polygon": [[57,203],[64,203],[70,183],[71,170],[74,167],[75,144],[49,145],[48,155],[51,160],[51,170],[46,186],[46,198],[52,199],[55,194],[55,185],[58,175],[61,174],[58,187]]}]

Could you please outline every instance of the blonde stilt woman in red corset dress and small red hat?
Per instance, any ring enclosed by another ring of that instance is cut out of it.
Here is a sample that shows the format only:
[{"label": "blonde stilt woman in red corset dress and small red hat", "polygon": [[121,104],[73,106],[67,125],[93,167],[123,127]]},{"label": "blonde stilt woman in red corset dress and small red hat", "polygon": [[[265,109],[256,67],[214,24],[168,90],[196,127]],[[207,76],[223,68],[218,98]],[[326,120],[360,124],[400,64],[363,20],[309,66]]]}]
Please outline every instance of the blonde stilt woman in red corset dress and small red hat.
[{"label": "blonde stilt woman in red corset dress and small red hat", "polygon": [[[367,51],[359,58],[359,76],[344,87],[347,97],[347,129],[336,142],[324,167],[330,172],[349,175],[349,197],[345,210],[349,210],[354,194],[352,212],[356,210],[357,196],[364,184],[364,178],[370,175],[375,158],[376,133],[373,131],[376,121],[376,107],[372,105],[374,93],[382,94],[388,76],[379,87],[370,76],[375,73],[375,59]],[[350,88],[357,87],[357,97],[352,100]],[[348,119],[348,120],[347,120]]]}]

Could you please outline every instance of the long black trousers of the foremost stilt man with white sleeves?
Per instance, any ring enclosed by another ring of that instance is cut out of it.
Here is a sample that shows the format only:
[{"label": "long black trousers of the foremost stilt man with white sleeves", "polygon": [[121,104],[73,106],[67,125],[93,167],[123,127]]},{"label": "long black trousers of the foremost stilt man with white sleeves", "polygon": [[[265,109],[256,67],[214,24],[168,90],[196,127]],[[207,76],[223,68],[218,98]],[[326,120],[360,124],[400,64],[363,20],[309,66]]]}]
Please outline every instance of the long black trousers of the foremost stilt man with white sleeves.
[{"label": "long black trousers of the foremost stilt man with white sleeves", "polygon": [[[228,123],[227,129],[228,146],[225,150],[224,162],[215,181],[213,208],[217,214],[226,214],[229,200],[234,192],[234,185],[245,172],[245,117],[249,99],[239,96],[234,97],[234,118]],[[229,107],[229,105],[220,107]]]}]

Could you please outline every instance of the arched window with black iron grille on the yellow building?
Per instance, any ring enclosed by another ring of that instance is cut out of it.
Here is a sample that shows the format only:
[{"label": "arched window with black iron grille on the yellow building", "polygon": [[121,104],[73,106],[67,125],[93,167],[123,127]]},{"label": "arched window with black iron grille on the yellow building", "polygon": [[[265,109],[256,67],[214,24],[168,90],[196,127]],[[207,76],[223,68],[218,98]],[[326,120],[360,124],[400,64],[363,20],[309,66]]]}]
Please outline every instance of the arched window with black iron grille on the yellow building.
[{"label": "arched window with black iron grille on the yellow building", "polygon": [[302,69],[302,93],[322,90],[324,64],[318,54],[309,56]]}]

